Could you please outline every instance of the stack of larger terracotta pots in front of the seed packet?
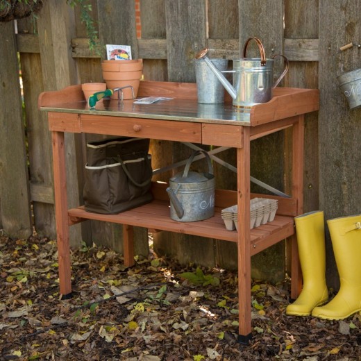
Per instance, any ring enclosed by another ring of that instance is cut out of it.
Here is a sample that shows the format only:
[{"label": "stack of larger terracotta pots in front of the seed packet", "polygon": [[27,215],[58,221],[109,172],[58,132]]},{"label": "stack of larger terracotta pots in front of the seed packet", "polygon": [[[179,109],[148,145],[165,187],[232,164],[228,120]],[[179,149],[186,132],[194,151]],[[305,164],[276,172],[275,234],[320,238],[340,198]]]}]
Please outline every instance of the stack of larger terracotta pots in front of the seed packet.
[{"label": "stack of larger terracotta pots in front of the seed packet", "polygon": [[[103,79],[106,82],[108,89],[114,90],[117,87],[124,87],[131,85],[133,87],[134,96],[140,85],[140,79],[143,73],[143,60],[103,60],[101,63],[103,70]],[[122,90],[123,99],[133,99],[133,92],[130,87]],[[118,94],[115,92],[111,96],[112,99],[118,99]]]}]

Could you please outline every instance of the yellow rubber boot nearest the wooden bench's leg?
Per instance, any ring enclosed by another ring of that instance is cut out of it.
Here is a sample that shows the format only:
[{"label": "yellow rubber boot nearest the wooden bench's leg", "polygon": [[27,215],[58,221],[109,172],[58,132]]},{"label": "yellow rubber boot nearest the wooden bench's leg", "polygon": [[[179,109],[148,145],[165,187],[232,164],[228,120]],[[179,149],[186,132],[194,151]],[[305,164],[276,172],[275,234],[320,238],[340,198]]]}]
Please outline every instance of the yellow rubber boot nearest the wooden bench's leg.
[{"label": "yellow rubber boot nearest the wooden bench's leg", "polygon": [[305,213],[294,218],[301,263],[303,287],[299,297],[286,308],[286,314],[309,316],[328,301],[324,212]]}]

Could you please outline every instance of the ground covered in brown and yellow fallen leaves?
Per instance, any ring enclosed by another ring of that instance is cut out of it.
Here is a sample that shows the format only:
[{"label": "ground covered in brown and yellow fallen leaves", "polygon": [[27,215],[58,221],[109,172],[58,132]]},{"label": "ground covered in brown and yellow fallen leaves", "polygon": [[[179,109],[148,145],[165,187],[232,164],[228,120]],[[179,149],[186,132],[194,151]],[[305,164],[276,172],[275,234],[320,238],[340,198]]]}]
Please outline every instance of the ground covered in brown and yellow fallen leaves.
[{"label": "ground covered in brown and yellow fallen leaves", "polygon": [[0,360],[361,360],[361,315],[287,317],[287,282],[253,283],[242,346],[236,273],[83,244],[72,275],[62,301],[56,241],[0,237]]}]

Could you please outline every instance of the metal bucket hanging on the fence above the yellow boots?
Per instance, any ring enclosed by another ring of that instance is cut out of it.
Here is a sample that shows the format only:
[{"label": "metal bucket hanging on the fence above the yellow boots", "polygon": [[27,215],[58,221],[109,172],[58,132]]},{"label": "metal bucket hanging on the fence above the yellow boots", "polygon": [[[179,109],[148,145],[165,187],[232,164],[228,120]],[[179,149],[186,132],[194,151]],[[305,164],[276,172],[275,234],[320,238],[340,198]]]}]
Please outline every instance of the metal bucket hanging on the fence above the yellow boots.
[{"label": "metal bucket hanging on the fence above the yellow boots", "polygon": [[361,106],[361,69],[337,76],[339,89],[349,102],[350,109]]}]

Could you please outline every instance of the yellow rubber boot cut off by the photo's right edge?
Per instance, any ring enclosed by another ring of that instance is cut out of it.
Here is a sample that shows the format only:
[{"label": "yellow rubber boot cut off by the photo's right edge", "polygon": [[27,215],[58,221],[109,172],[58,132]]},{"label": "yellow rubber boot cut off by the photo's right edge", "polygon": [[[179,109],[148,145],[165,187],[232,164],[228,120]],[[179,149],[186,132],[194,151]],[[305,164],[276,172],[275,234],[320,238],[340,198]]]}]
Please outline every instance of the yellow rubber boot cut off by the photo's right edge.
[{"label": "yellow rubber boot cut off by the photo's right edge", "polygon": [[323,307],[314,308],[319,319],[346,319],[361,311],[361,215],[327,221],[339,272],[339,292]]}]

